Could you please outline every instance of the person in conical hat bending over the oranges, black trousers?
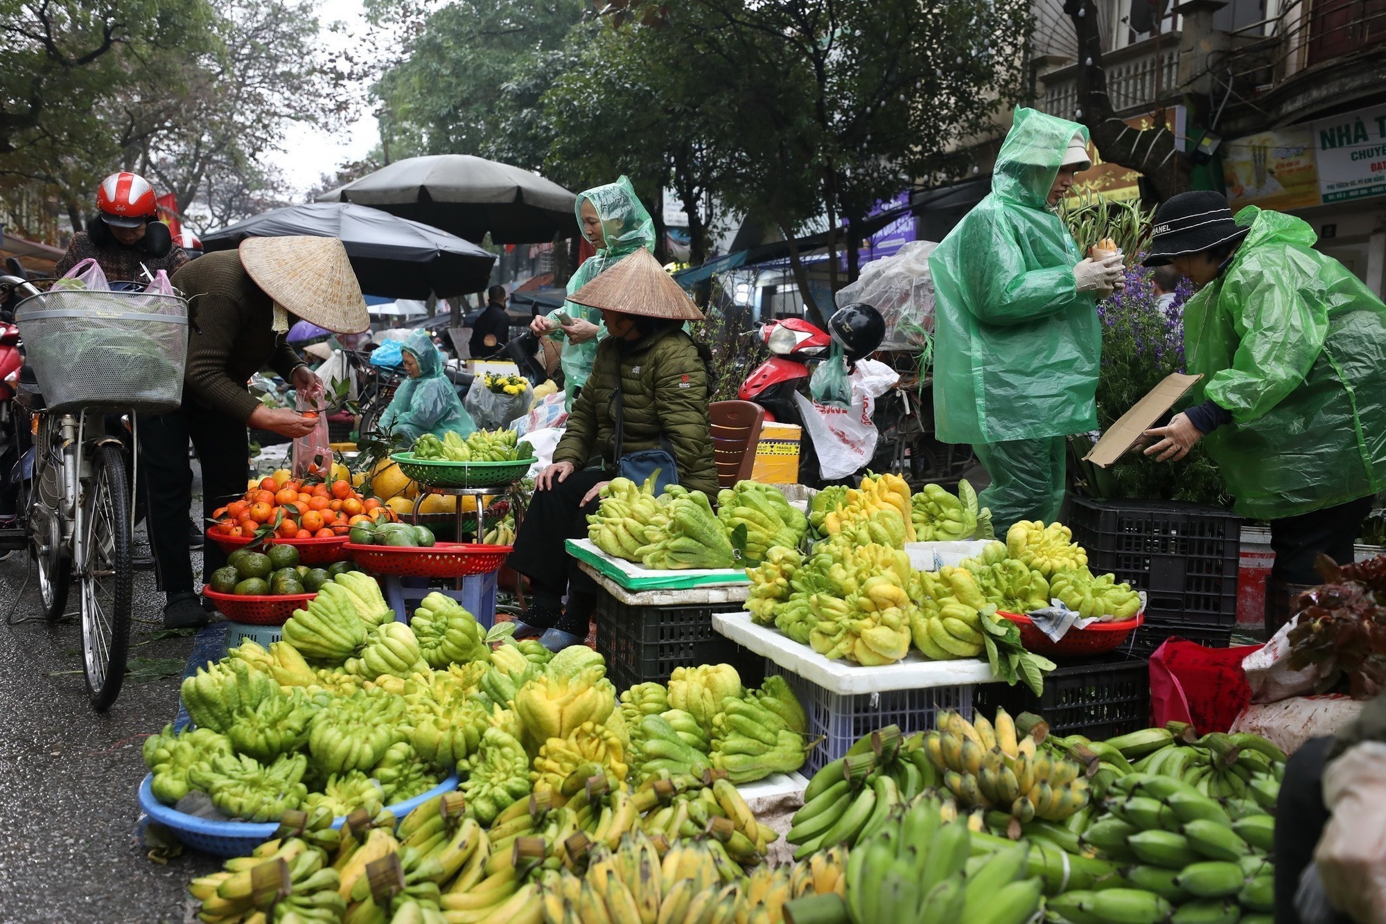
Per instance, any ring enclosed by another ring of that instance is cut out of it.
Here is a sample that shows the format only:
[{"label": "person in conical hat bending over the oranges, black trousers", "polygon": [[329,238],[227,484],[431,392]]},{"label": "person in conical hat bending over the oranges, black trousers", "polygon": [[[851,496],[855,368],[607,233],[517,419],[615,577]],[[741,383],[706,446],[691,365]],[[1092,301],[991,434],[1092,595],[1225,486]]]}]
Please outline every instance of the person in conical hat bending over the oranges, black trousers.
[{"label": "person in conical hat bending over the oranges, black trousers", "polygon": [[[288,345],[291,316],[334,332],[366,330],[370,317],[346,248],[335,237],[252,237],[236,251],[216,251],[173,277],[188,302],[183,406],[140,418],[140,460],[150,485],[150,539],[168,604],[164,625],[207,622],[193,583],[187,514],[193,472],[187,442],[202,463],[202,517],[245,490],[247,427],[305,436],[316,417],[266,407],[245,388],[266,366],[309,400],[323,393],[317,375]],[[226,564],[207,543],[202,574]]]}]

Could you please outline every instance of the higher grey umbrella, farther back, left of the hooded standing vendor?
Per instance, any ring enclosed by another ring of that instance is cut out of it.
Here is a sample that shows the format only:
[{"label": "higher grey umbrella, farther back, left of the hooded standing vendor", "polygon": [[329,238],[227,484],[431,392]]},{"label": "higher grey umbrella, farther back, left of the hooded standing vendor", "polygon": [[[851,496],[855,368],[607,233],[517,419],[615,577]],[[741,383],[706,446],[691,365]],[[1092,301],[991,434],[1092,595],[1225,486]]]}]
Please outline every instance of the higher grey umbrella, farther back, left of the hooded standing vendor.
[{"label": "higher grey umbrella, farther back, left of the hooded standing vendor", "polygon": [[468,241],[543,244],[572,237],[577,197],[552,180],[470,154],[412,157],[317,197],[427,222]]}]

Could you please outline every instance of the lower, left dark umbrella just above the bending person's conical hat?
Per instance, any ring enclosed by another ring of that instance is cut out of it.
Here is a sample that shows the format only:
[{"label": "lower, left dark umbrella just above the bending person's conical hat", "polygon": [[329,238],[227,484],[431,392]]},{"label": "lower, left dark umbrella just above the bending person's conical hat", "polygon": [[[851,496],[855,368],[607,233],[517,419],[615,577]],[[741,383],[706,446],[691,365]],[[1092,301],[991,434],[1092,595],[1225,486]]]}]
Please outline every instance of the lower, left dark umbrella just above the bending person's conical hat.
[{"label": "lower, left dark umbrella just above the bending person's conical hat", "polygon": [[348,202],[273,209],[202,236],[207,251],[229,251],[247,237],[340,237],[363,292],[391,298],[452,298],[480,292],[496,258],[471,241],[420,222]]}]

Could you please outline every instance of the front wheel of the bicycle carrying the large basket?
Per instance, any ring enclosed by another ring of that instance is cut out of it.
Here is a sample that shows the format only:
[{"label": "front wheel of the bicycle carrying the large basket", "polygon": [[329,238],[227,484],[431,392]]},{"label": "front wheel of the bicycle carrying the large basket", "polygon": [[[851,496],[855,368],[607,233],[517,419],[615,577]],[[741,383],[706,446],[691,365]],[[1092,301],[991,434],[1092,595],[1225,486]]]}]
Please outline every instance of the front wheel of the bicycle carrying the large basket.
[{"label": "front wheel of the bicycle carrying the large basket", "polygon": [[82,583],[82,666],[91,708],[105,712],[121,695],[130,646],[130,482],[125,450],[97,446],[83,499],[85,562]]}]

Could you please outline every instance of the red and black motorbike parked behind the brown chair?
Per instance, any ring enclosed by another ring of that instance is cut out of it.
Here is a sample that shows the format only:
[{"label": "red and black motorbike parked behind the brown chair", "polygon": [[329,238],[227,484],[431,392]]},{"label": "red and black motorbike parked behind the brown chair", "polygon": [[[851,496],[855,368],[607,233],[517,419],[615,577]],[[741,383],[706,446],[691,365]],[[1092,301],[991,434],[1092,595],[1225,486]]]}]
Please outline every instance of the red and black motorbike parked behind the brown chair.
[{"label": "red and black motorbike parked behind the brown chair", "polygon": [[[765,409],[766,421],[802,427],[796,393],[808,392],[812,374],[809,363],[827,355],[832,337],[801,317],[786,317],[762,324],[757,331],[771,357],[751,370],[736,396]],[[876,452],[866,470],[897,472],[922,489],[934,482],[956,489],[958,479],[976,461],[970,446],[941,443],[934,439],[931,382],[919,375],[919,357],[913,353],[876,353],[901,373],[900,384],[876,399],[872,423],[880,434]],[[852,483],[852,479],[825,482],[819,475],[818,454],[811,439],[800,442],[800,483],[822,488],[826,483]]]}]

